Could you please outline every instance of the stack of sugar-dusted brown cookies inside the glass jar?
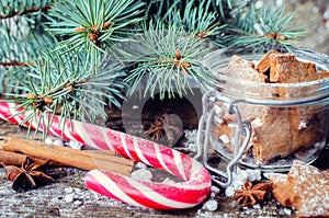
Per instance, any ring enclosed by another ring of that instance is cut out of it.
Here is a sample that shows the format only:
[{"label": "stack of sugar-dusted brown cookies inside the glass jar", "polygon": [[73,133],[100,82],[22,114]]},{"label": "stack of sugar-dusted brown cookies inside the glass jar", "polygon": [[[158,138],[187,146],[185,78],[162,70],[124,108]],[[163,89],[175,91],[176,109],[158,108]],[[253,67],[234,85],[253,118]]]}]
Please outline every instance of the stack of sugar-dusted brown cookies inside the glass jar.
[{"label": "stack of sugar-dusted brown cookies inside the glass jar", "polygon": [[[271,50],[256,65],[240,56],[234,55],[228,64],[225,76],[241,81],[241,89],[246,92],[254,92],[254,87],[248,82],[269,84],[270,89],[259,89],[259,95],[268,94],[274,100],[287,100],[299,97],[304,93],[313,92],[310,87],[296,85],[300,82],[309,82],[329,78],[328,71],[319,71],[313,62],[298,60],[294,55],[281,54]],[[247,83],[243,83],[247,81]],[[273,85],[272,85],[273,84]],[[262,85],[260,85],[262,87]],[[232,89],[223,90],[228,94]],[[328,110],[324,105],[296,105],[296,106],[268,106],[240,104],[239,111],[242,118],[252,124],[252,138],[249,150],[252,152],[257,164],[266,164],[273,159],[285,158],[299,149],[307,149],[316,144],[325,144],[328,133]],[[220,105],[219,105],[220,107]],[[218,110],[217,110],[218,111]],[[224,147],[232,151],[234,117],[224,110],[217,113],[219,123],[215,125],[213,135],[217,138],[229,138],[223,142]],[[215,133],[215,134],[214,134]],[[224,137],[225,136],[225,137]]]}]

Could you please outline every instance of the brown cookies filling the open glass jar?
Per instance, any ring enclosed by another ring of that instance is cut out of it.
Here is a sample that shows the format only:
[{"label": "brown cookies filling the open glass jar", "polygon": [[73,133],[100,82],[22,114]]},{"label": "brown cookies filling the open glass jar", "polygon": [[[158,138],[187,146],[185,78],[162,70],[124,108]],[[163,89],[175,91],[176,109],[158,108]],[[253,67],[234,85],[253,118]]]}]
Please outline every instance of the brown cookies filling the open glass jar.
[{"label": "brown cookies filling the open glass jar", "polygon": [[[313,61],[275,50],[253,60],[232,55],[226,65],[217,72],[219,94],[243,100],[236,106],[252,126],[241,161],[280,167],[295,159],[315,160],[328,136],[328,97],[316,99],[328,95],[329,72]],[[214,107],[213,146],[219,145],[220,153],[234,153],[236,116],[227,111],[227,102],[216,101]]]}]

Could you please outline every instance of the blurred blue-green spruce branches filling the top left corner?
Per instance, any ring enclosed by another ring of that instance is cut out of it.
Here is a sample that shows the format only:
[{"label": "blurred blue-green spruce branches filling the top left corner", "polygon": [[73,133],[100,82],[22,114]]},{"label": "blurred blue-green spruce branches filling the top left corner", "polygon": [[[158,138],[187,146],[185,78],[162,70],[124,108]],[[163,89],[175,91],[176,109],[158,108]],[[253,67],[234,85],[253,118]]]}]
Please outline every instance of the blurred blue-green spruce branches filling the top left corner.
[{"label": "blurred blue-green spruce branches filling the top left corner", "polygon": [[[26,68],[31,59],[39,56],[42,50],[52,48],[56,38],[44,31],[45,12],[52,0],[18,1],[9,0],[0,3],[0,91],[18,92],[9,89],[13,80],[8,74],[14,68]],[[45,9],[45,10],[32,10]],[[4,85],[5,84],[5,85]]]}]

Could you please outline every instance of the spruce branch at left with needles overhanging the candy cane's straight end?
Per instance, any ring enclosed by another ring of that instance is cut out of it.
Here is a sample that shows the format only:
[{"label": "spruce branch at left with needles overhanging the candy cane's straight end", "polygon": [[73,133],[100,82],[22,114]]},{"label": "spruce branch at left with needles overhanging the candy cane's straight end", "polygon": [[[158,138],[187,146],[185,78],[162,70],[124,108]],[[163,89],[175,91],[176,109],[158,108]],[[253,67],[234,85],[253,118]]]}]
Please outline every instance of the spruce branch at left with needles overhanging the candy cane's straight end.
[{"label": "spruce branch at left with needles overhanging the candy cane's straight end", "polygon": [[61,55],[60,50],[43,53],[29,69],[10,71],[19,85],[11,84],[18,91],[7,95],[20,102],[21,113],[31,114],[26,121],[39,117],[37,122],[50,125],[52,121],[47,117],[52,114],[59,114],[63,119],[91,123],[100,116],[105,118],[106,99],[120,104],[118,99],[123,97],[120,90],[124,84],[117,78],[124,73],[111,65],[95,76],[90,65],[86,65],[87,58],[86,54],[77,50],[66,55]]}]

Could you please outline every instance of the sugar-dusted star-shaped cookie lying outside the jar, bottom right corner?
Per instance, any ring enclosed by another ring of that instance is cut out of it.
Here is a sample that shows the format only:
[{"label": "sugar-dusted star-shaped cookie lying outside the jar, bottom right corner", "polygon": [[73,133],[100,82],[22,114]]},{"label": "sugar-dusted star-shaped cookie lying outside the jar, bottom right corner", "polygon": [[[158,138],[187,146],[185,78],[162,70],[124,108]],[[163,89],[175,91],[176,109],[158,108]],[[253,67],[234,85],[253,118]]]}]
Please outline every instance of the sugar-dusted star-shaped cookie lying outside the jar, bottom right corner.
[{"label": "sugar-dusted star-shaped cookie lying outside the jar, bottom right corner", "polygon": [[[271,181],[276,184],[277,198],[283,204],[291,203],[298,209],[298,216],[329,216],[329,175],[319,169],[307,165],[302,161],[294,161],[290,173],[268,174]],[[281,187],[281,185],[284,185]],[[280,193],[285,186],[292,185],[292,193]],[[274,186],[275,188],[275,186]],[[282,195],[282,196],[281,196]],[[275,196],[275,190],[274,190]]]}]

